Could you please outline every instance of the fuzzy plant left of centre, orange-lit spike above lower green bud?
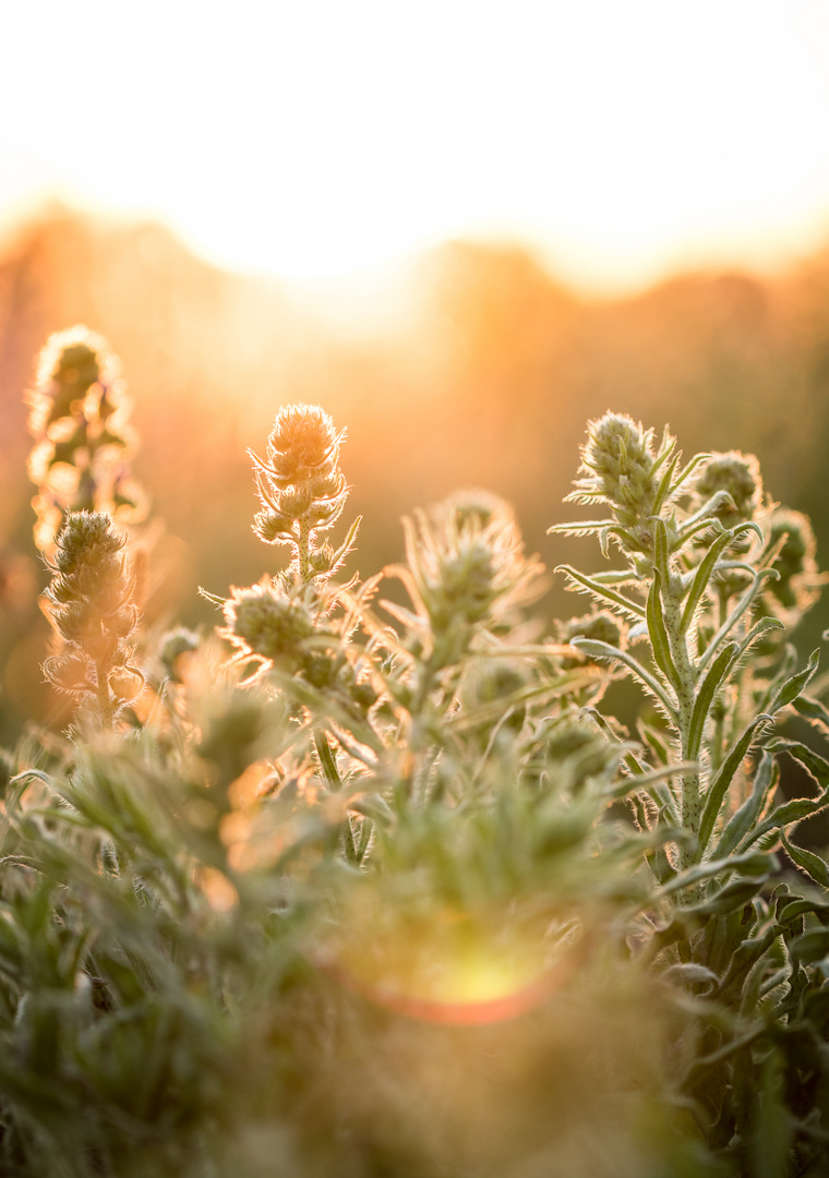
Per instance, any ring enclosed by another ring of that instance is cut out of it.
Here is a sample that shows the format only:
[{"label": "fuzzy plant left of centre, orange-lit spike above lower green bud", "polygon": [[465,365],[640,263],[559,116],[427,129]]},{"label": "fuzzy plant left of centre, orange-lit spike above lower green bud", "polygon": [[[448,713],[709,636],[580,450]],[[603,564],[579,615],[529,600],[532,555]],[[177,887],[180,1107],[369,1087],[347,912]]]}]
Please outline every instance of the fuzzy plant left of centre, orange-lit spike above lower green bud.
[{"label": "fuzzy plant left of centre, orange-lit spike above lower green bud", "polygon": [[[261,502],[253,530],[266,543],[286,545],[291,560],[258,584],[232,588],[219,630],[234,647],[232,662],[248,671],[245,686],[265,682],[283,691],[304,717],[292,742],[294,761],[301,766],[309,759],[310,737],[326,788],[337,793],[344,785],[338,748],[378,743],[369,714],[380,686],[372,659],[352,641],[360,617],[356,577],[345,585],[333,581],[353,549],[359,518],[339,548],[323,538],[347,497],[339,469],[343,437],[324,410],[287,405],[277,415],[266,459],[251,452]],[[366,845],[357,849],[359,835],[343,819],[346,853],[359,858]]]}]

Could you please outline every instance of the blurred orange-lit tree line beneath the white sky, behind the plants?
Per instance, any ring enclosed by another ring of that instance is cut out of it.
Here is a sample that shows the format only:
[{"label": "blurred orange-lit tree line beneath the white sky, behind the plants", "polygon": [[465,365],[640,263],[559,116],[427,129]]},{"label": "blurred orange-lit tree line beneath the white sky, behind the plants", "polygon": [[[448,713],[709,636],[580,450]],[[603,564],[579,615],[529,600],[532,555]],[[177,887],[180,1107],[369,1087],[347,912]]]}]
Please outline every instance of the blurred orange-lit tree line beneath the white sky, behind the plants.
[{"label": "blurred orange-lit tree line beneath the white sky, behind the plants", "polygon": [[[150,621],[212,624],[197,585],[257,580],[261,452],[281,404],[306,401],[347,426],[343,466],[365,516],[356,565],[402,554],[399,518],[462,487],[510,499],[549,568],[582,562],[564,518],[585,422],[608,409],[687,454],[754,451],[770,495],[813,517],[829,558],[829,251],[775,278],[705,273],[589,300],[517,247],[450,244],[410,276],[409,313],[337,332],[276,282],[223,272],[153,224],[54,207],[0,246],[0,739],[54,701],[39,663],[46,583],[32,543],[24,393],[47,336],[74,323],[121,357],[141,436],[133,464],[164,521]],[[280,562],[274,550],[271,571]],[[550,613],[582,611],[561,589]],[[818,607],[803,644],[827,624]]]}]

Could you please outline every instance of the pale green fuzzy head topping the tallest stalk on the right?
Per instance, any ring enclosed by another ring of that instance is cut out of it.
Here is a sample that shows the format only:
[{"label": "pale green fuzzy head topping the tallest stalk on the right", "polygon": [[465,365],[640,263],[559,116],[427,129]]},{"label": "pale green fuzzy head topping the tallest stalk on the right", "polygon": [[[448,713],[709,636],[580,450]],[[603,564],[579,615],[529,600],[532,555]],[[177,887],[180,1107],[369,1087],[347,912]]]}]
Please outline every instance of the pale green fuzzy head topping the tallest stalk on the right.
[{"label": "pale green fuzzy head topping the tallest stalk on the right", "polygon": [[[666,437],[666,442],[672,439]],[[608,503],[624,528],[636,528],[654,514],[658,465],[652,429],[645,430],[626,413],[605,413],[588,423],[588,441],[582,446],[584,476],[576,479],[576,490],[568,499]]]}]

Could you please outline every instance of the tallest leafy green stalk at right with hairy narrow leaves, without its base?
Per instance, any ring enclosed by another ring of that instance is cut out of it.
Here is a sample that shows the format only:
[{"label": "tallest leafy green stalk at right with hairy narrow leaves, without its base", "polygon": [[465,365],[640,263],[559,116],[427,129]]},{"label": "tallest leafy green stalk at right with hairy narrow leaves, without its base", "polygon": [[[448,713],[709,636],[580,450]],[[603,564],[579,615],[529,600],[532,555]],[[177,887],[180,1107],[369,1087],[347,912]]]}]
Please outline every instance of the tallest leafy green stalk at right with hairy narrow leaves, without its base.
[{"label": "tallest leafy green stalk at right with hairy narrow leaves, without its base", "polygon": [[[563,571],[571,588],[592,594],[648,635],[655,666],[595,638],[575,637],[573,646],[622,663],[644,684],[672,730],[677,761],[685,768],[679,788],[661,787],[659,798],[663,816],[689,835],[677,847],[681,863],[689,867],[705,854],[731,776],[752,737],[783,706],[769,701],[771,710],[737,734],[731,701],[730,722],[719,721],[718,741],[701,763],[703,739],[717,709],[728,709],[727,687],[738,677],[747,651],[781,626],[775,618],[754,618],[763,587],[777,576],[754,518],[762,495],[757,463],[734,454],[697,455],[679,469],[668,431],[655,454],[652,430],[608,413],[589,425],[582,470],[570,498],[605,503],[610,517],[551,531],[598,532],[605,554],[612,537],[625,563],[595,577],[569,567]],[[694,471],[698,474],[691,483]],[[683,495],[690,499],[685,509]],[[727,734],[737,737],[731,750]],[[724,776],[717,775],[721,768]]]}]

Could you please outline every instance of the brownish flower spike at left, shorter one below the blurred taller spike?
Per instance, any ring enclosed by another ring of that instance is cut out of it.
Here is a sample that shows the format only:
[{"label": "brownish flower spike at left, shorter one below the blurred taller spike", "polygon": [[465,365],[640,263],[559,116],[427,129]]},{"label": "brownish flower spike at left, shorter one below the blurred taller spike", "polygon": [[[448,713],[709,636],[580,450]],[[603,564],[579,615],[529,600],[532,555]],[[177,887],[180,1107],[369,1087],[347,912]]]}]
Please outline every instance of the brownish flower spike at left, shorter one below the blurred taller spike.
[{"label": "brownish flower spike at left, shorter one below the blurred taller spike", "polygon": [[138,609],[124,543],[102,511],[71,511],[55,541],[53,578],[44,594],[62,644],[46,660],[44,673],[79,702],[97,704],[104,727],[112,727],[144,687],[133,662]]}]

